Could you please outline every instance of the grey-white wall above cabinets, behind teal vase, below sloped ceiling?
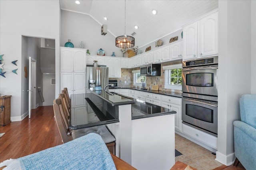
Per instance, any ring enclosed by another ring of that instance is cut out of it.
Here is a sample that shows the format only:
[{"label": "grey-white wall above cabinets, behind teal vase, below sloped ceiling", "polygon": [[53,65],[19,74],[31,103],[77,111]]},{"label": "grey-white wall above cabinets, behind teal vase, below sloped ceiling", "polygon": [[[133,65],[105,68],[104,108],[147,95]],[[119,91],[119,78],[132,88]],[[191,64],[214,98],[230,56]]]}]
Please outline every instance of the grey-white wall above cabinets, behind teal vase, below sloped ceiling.
[{"label": "grey-white wall above cabinets, behind teal vase, below sloped ceiling", "polygon": [[83,41],[84,48],[89,49],[91,55],[97,55],[97,51],[103,49],[108,56],[115,52],[117,57],[122,57],[120,48],[115,45],[116,37],[109,32],[101,35],[101,26],[86,14],[61,10],[60,46],[64,47],[70,39],[75,48],[80,48]]}]

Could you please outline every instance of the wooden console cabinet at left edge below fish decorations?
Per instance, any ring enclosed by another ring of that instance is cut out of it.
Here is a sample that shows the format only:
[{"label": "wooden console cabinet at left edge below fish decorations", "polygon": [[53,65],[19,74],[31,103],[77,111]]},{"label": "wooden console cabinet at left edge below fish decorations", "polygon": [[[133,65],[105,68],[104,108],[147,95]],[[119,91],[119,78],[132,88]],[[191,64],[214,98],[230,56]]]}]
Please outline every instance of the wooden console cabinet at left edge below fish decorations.
[{"label": "wooden console cabinet at left edge below fish decorations", "polygon": [[11,96],[0,96],[0,126],[11,122]]}]

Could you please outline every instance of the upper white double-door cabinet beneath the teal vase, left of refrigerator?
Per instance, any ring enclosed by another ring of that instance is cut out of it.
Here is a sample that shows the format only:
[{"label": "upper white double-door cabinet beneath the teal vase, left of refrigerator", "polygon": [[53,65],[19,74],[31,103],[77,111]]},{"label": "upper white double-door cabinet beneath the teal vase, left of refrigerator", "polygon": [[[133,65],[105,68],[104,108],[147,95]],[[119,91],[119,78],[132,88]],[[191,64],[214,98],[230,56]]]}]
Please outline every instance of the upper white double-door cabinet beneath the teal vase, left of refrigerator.
[{"label": "upper white double-door cabinet beneath the teal vase, left of refrigerator", "polygon": [[85,72],[86,49],[60,47],[60,72]]}]

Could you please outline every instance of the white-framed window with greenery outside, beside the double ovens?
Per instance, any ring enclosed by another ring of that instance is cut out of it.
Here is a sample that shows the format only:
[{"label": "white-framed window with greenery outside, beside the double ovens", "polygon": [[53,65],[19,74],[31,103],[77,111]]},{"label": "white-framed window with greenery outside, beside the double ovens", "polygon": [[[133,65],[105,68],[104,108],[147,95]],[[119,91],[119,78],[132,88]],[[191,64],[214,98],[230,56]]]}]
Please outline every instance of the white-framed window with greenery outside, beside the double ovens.
[{"label": "white-framed window with greenery outside, beside the double ovens", "polygon": [[182,65],[163,66],[164,88],[182,90]]}]

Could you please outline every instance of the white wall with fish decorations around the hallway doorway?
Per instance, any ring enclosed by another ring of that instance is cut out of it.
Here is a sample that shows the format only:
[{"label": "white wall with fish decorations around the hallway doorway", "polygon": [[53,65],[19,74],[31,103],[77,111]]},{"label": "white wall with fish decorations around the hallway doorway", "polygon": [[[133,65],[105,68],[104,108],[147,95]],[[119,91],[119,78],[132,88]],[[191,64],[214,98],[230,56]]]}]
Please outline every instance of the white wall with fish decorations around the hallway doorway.
[{"label": "white wall with fish decorations around the hallway doorway", "polygon": [[[6,78],[0,77],[0,93],[12,95],[11,98],[11,120],[22,119],[21,115],[26,112],[25,106],[28,102],[23,98],[26,90],[24,87],[24,66],[26,62],[22,59],[22,35],[31,37],[46,37],[55,39],[59,47],[60,39],[60,4],[57,0],[11,0],[0,1],[0,50],[4,54],[6,63],[18,60],[17,74],[7,74]],[[25,48],[26,45],[24,45]],[[56,50],[56,60],[59,62],[59,49]],[[56,64],[59,68],[59,63]],[[6,64],[6,69],[7,69]],[[9,67],[9,66],[8,66]],[[10,68],[12,69],[11,65]],[[9,68],[9,69],[10,69]],[[59,70],[58,70],[59,71]],[[59,81],[59,76],[58,80]],[[56,85],[59,89],[59,82]],[[56,92],[58,95],[59,92]],[[24,100],[24,103],[21,101]],[[21,109],[21,105],[23,109]]]}]

